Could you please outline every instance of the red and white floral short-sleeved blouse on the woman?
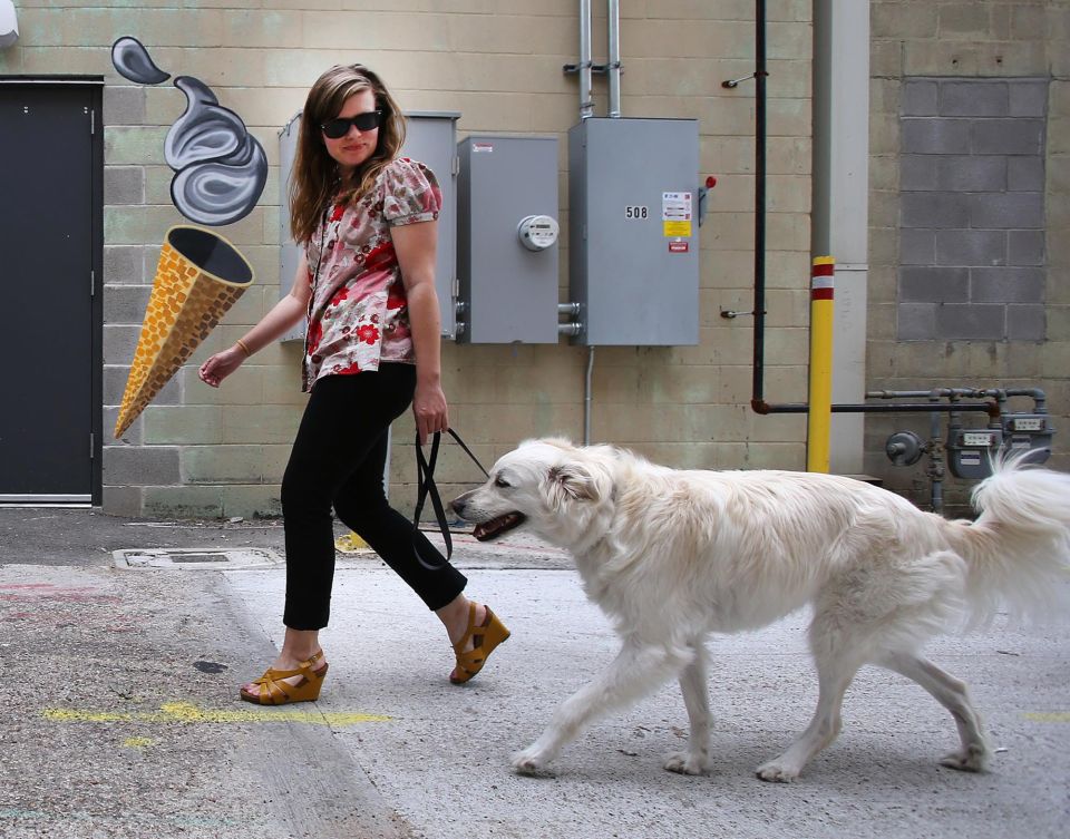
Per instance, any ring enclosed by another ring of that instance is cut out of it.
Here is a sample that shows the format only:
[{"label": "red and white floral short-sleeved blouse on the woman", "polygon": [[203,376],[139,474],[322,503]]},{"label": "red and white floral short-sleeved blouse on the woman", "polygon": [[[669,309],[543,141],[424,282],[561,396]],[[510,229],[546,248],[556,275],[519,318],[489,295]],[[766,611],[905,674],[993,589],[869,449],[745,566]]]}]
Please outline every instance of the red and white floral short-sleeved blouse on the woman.
[{"label": "red and white floral short-sleeved blouse on the woman", "polygon": [[317,227],[305,248],[312,294],[302,390],[324,375],[416,362],[390,228],[434,221],[441,206],[435,174],[399,157],[356,205],[335,205]]}]

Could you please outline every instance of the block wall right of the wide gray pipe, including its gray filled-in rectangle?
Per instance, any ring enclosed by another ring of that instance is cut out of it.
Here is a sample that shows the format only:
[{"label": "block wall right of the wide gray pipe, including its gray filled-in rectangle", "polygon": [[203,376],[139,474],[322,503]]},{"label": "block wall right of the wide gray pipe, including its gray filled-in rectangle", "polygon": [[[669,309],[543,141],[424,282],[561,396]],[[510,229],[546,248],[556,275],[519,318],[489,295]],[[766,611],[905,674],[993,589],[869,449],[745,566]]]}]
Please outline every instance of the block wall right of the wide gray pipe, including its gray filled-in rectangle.
[{"label": "block wall right of the wide gray pipe, including its gray filled-in rectangle", "polygon": [[[872,10],[872,387],[1039,387],[1057,428],[1050,465],[1068,469],[1070,7]],[[925,461],[883,456],[901,428],[928,436],[924,420],[867,419],[867,470],[924,503]],[[949,476],[952,511],[972,486]]]}]

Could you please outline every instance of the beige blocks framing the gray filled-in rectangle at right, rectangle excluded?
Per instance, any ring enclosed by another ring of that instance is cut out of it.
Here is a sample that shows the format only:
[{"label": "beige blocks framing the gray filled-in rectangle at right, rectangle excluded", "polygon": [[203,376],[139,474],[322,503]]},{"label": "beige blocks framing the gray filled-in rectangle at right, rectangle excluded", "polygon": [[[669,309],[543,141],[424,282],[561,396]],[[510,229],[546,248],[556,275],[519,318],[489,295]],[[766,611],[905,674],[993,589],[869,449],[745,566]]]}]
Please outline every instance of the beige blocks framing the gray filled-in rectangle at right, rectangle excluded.
[{"label": "beige blocks framing the gray filled-in rectangle at right, rectangle excluded", "polygon": [[[897,0],[874,2],[872,14],[867,368],[873,387],[1039,387],[1048,394],[1057,429],[1049,465],[1070,469],[1070,6],[1064,0]],[[895,340],[899,94],[903,78],[911,76],[1051,78],[1045,159],[1047,340]],[[1018,410],[1030,407],[1028,399],[1012,403]],[[916,469],[886,466],[884,441],[899,428],[927,437],[925,420],[873,418],[866,425],[866,466],[886,475],[889,486],[918,501],[927,500],[924,460]],[[947,476],[945,492],[952,510],[961,507],[972,486]]]}]

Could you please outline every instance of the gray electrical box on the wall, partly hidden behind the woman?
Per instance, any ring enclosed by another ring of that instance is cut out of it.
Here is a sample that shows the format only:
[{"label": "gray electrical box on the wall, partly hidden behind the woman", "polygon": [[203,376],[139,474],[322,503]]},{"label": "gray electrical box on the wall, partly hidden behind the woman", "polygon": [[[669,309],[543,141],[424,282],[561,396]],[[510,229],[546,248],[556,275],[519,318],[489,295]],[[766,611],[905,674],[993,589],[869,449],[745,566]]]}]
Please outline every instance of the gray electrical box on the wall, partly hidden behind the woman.
[{"label": "gray electrical box on the wall, partly hidden behind the woman", "polygon": [[[438,216],[438,253],[435,262],[435,286],[441,310],[442,335],[456,336],[456,265],[457,265],[457,120],[460,114],[439,111],[410,111],[402,157],[411,157],[430,167],[442,191],[442,211]],[[290,172],[298,146],[301,114],[298,113],[279,133],[279,241],[280,252],[279,296],[290,293],[293,275],[298,270],[301,253],[290,237]],[[305,324],[302,322],[283,341],[303,340]]]}]

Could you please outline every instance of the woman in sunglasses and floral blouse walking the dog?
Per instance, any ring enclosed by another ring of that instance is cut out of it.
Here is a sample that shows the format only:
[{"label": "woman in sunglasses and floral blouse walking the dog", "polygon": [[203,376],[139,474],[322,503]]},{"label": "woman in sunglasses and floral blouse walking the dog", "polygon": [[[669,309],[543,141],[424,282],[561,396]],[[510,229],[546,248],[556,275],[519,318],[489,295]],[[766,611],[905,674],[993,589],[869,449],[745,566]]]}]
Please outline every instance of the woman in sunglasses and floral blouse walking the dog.
[{"label": "woman in sunglasses and floral blouse walking the dog", "polygon": [[302,382],[310,396],[282,479],[285,638],[264,675],[241,689],[249,702],[320,694],[332,507],[441,620],[456,655],[451,682],[471,679],[509,635],[489,608],[465,597],[465,577],[383,495],[390,422],[411,402],[421,443],[449,427],[435,291],[441,194],[430,169],[398,157],[403,139],[401,111],[367,67],[332,67],[317,79],[290,188],[290,225],[304,247],[293,287],[200,370],[216,388],[308,318]]}]

